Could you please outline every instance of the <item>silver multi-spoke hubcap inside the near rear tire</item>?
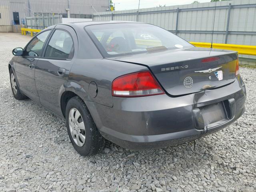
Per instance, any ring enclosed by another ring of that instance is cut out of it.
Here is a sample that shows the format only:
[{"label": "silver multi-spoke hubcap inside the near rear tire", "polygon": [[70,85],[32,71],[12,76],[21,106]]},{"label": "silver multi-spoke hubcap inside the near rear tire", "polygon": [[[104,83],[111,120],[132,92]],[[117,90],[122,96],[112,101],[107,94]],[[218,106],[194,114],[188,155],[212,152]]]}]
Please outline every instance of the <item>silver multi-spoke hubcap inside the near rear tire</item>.
[{"label": "silver multi-spoke hubcap inside the near rear tire", "polygon": [[68,115],[70,133],[76,145],[82,147],[85,143],[86,132],[83,118],[76,108],[72,108]]}]

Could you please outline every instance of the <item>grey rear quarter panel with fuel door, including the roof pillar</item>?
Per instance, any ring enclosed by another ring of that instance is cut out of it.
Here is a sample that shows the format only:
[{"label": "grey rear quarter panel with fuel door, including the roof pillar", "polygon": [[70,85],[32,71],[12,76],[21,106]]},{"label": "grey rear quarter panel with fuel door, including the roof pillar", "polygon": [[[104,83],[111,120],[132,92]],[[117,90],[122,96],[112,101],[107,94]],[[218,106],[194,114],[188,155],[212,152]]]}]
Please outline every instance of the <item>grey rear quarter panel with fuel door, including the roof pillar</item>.
[{"label": "grey rear quarter panel with fuel door, including the roof pillar", "polygon": [[[70,70],[66,90],[75,92],[86,101],[112,107],[112,81],[118,76],[148,68],[104,59],[83,28],[74,24],[70,26],[75,29],[78,37],[78,54]],[[97,88],[89,91],[91,82],[96,84]]]}]

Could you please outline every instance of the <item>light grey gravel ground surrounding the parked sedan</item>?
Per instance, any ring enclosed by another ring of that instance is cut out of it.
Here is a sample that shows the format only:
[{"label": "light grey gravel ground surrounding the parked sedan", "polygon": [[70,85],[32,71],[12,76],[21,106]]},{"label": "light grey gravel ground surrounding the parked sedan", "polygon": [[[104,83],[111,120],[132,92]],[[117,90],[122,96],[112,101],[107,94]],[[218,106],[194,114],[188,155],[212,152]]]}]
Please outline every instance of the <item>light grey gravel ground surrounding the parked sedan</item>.
[{"label": "light grey gravel ground surrounding the parked sedan", "polygon": [[13,98],[11,50],[30,38],[0,34],[0,191],[256,191],[256,70],[240,68],[246,112],[224,130],[192,143],[130,151],[108,143],[82,157],[63,120],[32,100]]}]

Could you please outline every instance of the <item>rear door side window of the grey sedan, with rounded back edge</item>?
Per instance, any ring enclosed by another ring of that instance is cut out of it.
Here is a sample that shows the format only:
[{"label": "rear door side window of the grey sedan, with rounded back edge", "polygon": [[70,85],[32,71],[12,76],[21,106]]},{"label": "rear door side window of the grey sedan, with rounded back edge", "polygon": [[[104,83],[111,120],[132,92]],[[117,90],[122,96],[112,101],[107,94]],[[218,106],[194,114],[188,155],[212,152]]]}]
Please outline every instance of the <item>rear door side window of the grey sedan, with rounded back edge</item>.
[{"label": "rear door side window of the grey sedan, with rounded back edge", "polygon": [[74,43],[70,34],[64,30],[55,30],[47,45],[45,58],[71,59],[74,55]]}]

